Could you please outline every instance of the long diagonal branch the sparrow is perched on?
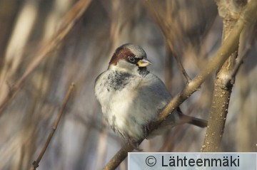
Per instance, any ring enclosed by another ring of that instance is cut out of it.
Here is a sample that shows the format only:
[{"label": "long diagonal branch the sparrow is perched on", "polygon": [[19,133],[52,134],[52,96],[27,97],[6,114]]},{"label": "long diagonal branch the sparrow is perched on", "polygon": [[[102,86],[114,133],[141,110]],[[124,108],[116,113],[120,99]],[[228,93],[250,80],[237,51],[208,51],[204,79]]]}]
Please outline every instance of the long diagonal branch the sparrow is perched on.
[{"label": "long diagonal branch the sparrow is perched on", "polygon": [[[239,36],[241,31],[243,30],[244,26],[246,26],[246,23],[251,22],[256,16],[257,9],[257,1],[250,1],[247,5],[244,11],[242,12],[240,17],[236,23],[236,26],[234,26],[233,31],[229,34],[228,38],[226,38],[226,41],[223,43],[223,46],[221,46],[216,54],[213,56],[212,60],[209,61],[206,64],[206,68],[201,70],[201,72],[196,76],[196,78],[193,78],[191,80],[191,83],[186,85],[182,92],[180,92],[178,95],[173,97],[173,100],[166,105],[166,107],[163,109],[161,114],[158,117],[158,121],[153,122],[151,126],[151,131],[153,129],[156,129],[158,127],[158,124],[160,124],[166,117],[173,112],[173,110],[176,109],[183,101],[185,101],[190,95],[195,92],[198,87],[209,77],[212,75],[212,73],[218,68],[221,68],[221,65],[226,61],[226,59],[233,53],[233,51],[236,50],[236,47],[238,46]],[[255,15],[253,15],[255,14]],[[254,17],[253,17],[254,16]],[[138,143],[141,144],[141,141]],[[124,147],[122,147],[119,152],[114,155],[114,157],[109,161],[108,164],[106,164],[104,169],[116,169],[116,167],[119,166],[121,161],[123,161],[128,152],[132,152],[133,147],[130,146],[130,144],[126,144]]]}]

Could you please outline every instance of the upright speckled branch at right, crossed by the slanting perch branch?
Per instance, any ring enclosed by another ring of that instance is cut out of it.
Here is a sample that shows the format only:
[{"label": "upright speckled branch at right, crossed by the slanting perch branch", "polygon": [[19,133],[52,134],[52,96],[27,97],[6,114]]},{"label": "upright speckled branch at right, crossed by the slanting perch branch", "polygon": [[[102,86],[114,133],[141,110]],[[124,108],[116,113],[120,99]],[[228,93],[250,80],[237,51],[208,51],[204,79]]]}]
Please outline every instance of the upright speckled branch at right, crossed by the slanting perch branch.
[{"label": "upright speckled branch at right, crossed by the slanting perch branch", "polygon": [[[236,26],[242,9],[246,6],[246,1],[216,1],[218,13],[223,18],[223,36],[222,43],[226,43],[226,38],[231,34],[232,29]],[[241,16],[243,18],[243,16]],[[201,152],[218,152],[223,130],[228,114],[228,105],[231,97],[231,90],[235,82],[235,76],[231,78],[233,68],[238,55],[239,38],[233,53],[218,70],[216,83],[213,92],[213,100],[208,118],[208,127],[206,138],[204,139]],[[228,79],[230,79],[228,81]]]}]

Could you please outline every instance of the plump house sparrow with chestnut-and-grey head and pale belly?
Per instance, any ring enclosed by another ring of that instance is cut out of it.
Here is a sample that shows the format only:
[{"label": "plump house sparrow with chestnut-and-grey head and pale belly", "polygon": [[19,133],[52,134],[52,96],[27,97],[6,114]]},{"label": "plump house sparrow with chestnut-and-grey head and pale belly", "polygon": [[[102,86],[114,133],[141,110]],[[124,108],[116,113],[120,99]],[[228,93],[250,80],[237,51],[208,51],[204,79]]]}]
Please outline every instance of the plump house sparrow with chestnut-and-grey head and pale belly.
[{"label": "plump house sparrow with chestnut-and-grey head and pale belly", "polygon": [[[148,124],[158,119],[172,96],[163,82],[150,73],[146,52],[139,46],[124,44],[116,49],[108,69],[95,82],[96,99],[114,132],[137,142],[148,134]],[[189,123],[206,127],[207,121],[183,115],[178,108],[162,124]]]}]

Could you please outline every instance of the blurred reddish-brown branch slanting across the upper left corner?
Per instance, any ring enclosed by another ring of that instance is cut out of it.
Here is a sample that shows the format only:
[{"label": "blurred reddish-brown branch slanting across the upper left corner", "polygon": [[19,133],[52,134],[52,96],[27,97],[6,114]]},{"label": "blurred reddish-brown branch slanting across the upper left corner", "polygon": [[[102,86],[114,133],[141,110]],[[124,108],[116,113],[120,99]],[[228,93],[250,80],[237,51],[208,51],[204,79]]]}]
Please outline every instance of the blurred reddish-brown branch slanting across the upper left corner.
[{"label": "blurred reddish-brown branch slanting across the upper left corner", "polygon": [[38,53],[36,53],[34,60],[32,60],[23,75],[21,75],[21,78],[19,78],[19,80],[17,80],[14,85],[10,87],[10,91],[4,93],[3,100],[0,101],[0,117],[3,115],[3,110],[6,107],[6,104],[20,90],[26,78],[28,78],[28,76],[31,75],[31,73],[41,63],[41,61],[49,56],[49,53],[54,51],[61,43],[61,41],[64,40],[71,29],[75,26],[76,21],[78,21],[82,14],[84,14],[84,11],[86,11],[90,3],[91,0],[80,0],[72,7],[66,16],[64,16],[58,31],[56,31],[56,33],[54,33],[54,35],[49,38],[49,41],[46,41],[46,43],[41,46]]}]

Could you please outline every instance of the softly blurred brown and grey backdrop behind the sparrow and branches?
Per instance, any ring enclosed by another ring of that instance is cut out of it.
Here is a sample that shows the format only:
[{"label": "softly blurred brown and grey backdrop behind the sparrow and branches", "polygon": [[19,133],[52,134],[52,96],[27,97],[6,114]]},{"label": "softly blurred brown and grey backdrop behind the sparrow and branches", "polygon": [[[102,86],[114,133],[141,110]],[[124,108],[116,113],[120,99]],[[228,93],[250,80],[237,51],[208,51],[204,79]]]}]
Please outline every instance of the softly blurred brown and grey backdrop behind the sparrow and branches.
[{"label": "softly blurred brown and grey backdrop behind the sparrow and branches", "polygon": [[[0,99],[38,51],[50,46],[46,42],[76,2],[0,1]],[[172,52],[163,31],[172,40]],[[106,70],[114,50],[124,43],[141,46],[153,63],[148,69],[176,95],[186,80],[173,55],[193,78],[221,46],[221,37],[222,19],[215,1],[91,1],[59,46],[41,60],[1,110],[0,169],[29,169],[72,82],[75,92],[38,169],[101,169],[124,144],[102,119],[94,97],[94,80]],[[257,151],[257,46],[251,44],[233,87],[222,152]],[[208,78],[181,110],[208,119],[214,81],[215,75]],[[200,152],[205,131],[184,124],[140,147],[144,152]],[[126,169],[126,164],[119,169]]]}]

